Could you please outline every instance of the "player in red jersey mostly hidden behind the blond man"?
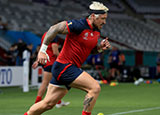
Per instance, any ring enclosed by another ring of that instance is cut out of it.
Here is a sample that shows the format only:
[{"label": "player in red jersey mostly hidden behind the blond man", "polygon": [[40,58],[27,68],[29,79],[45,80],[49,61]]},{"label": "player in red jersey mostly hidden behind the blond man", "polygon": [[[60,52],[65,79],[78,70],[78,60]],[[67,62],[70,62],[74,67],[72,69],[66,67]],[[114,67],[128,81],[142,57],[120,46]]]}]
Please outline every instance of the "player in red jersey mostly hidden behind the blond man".
[{"label": "player in red jersey mostly hidden behind the blond man", "polygon": [[[44,37],[45,37],[46,33],[44,33],[44,35],[42,36],[42,39],[41,39],[41,44],[43,43],[43,40],[44,40]],[[58,36],[56,36],[56,38],[54,40],[52,40],[52,42],[48,45],[48,48],[47,48],[47,54],[49,56],[49,59],[50,61],[47,61],[47,63],[45,65],[43,65],[43,81],[42,81],[42,84],[38,90],[38,94],[37,94],[37,97],[36,97],[36,101],[35,103],[39,102],[42,100],[45,92],[46,92],[46,89],[47,89],[47,86],[50,82],[50,80],[52,79],[52,72],[51,72],[51,68],[52,68],[52,65],[53,63],[55,62],[56,58],[58,57],[59,55],[59,50],[58,50]],[[38,67],[39,63],[38,61],[35,61],[32,65],[32,68],[33,69],[36,69]],[[62,106],[66,106],[70,104],[70,102],[64,102],[62,100],[59,100],[58,103],[56,104],[56,107],[57,108],[60,108]]]}]

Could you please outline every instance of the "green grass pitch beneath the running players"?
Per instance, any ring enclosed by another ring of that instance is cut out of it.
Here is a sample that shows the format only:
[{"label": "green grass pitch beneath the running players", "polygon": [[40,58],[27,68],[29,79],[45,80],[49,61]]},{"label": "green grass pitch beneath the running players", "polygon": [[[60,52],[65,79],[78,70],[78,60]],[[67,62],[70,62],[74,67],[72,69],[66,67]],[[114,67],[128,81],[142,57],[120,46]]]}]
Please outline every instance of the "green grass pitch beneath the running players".
[{"label": "green grass pitch beneath the running players", "polygon": [[[102,112],[104,115],[128,112],[132,110],[160,107],[160,84],[119,84],[111,87],[102,85],[92,115]],[[21,88],[0,88],[0,115],[23,115],[34,103],[37,90],[23,93]],[[64,97],[71,104],[60,109],[54,108],[43,115],[81,115],[85,93],[71,89]],[[119,115],[119,114],[115,114]],[[131,112],[122,115],[160,115],[160,109]]]}]

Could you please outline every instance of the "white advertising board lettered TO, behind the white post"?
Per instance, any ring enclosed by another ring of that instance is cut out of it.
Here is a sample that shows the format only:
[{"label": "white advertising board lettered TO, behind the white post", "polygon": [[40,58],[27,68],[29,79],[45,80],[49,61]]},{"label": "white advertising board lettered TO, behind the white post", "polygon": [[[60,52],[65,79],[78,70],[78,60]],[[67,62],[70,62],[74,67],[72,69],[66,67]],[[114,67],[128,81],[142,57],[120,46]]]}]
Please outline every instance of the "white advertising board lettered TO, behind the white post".
[{"label": "white advertising board lettered TO, behind the white post", "polygon": [[[28,76],[23,78],[28,74],[24,70],[23,66],[0,66],[0,87],[23,86],[25,81],[28,83]],[[39,86],[43,79],[43,68],[32,69],[31,78],[31,86]]]}]

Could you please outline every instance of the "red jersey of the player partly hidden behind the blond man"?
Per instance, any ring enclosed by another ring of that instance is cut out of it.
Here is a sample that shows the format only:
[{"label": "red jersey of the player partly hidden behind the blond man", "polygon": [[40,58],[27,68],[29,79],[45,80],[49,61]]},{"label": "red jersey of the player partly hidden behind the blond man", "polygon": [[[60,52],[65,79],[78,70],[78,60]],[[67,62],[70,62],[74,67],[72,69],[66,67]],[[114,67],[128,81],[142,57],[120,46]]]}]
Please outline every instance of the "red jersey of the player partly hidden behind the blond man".
[{"label": "red jersey of the player partly hidden behind the blond man", "polygon": [[[43,34],[43,36],[42,36],[41,44],[42,44],[42,42],[43,42],[43,40],[44,40],[44,37],[46,36],[46,33],[47,33],[47,32],[45,32],[45,33]],[[58,44],[57,42],[58,42],[58,36],[56,36],[56,38],[55,38],[54,40],[52,40],[52,41],[50,42],[50,44],[48,45],[48,48],[47,48],[47,51],[46,51],[46,52],[47,52],[47,54],[48,54],[48,56],[49,56],[50,61],[47,60],[47,63],[46,63],[43,67],[47,67],[47,66],[52,65],[52,64],[54,63],[54,61],[56,60],[57,56],[53,53],[52,44]]]}]

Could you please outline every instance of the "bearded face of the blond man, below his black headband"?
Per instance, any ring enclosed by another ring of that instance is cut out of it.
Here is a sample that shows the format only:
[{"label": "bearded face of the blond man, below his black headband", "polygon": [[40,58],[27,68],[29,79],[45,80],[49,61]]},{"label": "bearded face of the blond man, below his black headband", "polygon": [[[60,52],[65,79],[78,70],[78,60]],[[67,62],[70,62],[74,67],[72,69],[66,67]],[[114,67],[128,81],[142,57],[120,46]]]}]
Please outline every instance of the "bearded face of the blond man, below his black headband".
[{"label": "bearded face of the blond man, below his black headband", "polygon": [[106,24],[107,13],[99,14],[98,17],[94,16],[93,24],[100,30],[104,24]]}]

